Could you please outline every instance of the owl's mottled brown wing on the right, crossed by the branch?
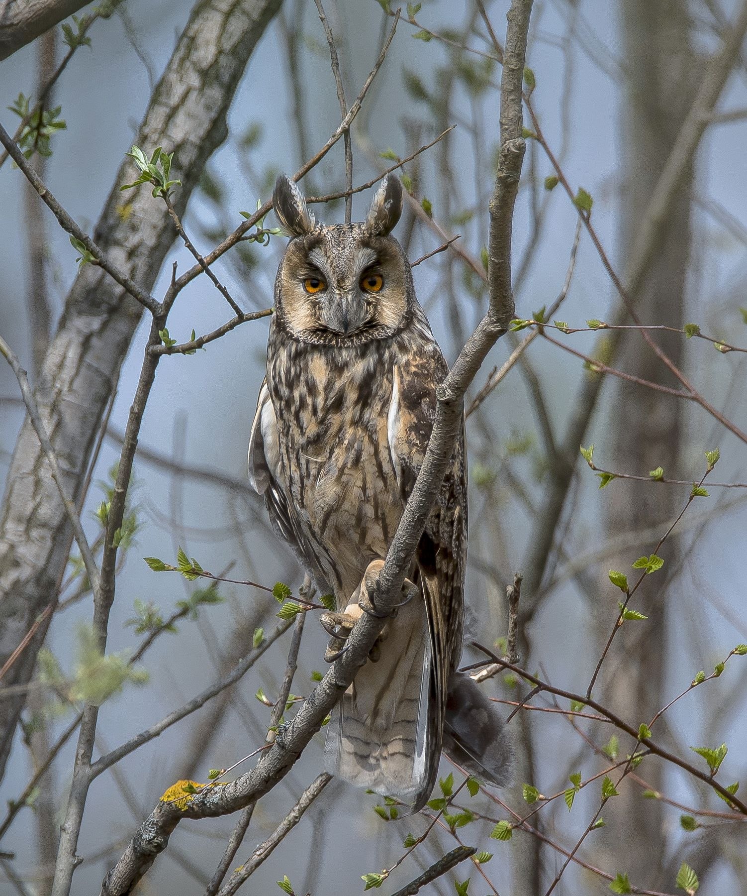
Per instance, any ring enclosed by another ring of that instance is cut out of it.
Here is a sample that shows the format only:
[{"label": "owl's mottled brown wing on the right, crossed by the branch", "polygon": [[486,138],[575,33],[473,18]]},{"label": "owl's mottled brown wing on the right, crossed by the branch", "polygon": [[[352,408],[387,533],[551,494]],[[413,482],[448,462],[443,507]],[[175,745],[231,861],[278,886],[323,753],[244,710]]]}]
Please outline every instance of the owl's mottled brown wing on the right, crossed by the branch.
[{"label": "owl's mottled brown wing on the right, crossed by the branch", "polygon": [[[421,343],[395,366],[388,435],[402,501],[407,502],[425,458],[435,414],[435,389],[448,371],[435,342]],[[438,761],[449,678],[461,652],[464,567],[467,549],[467,482],[464,433],[459,433],[449,470],[425,523],[416,550],[417,572],[425,599],[431,638],[432,701],[429,706],[430,796]]]}]

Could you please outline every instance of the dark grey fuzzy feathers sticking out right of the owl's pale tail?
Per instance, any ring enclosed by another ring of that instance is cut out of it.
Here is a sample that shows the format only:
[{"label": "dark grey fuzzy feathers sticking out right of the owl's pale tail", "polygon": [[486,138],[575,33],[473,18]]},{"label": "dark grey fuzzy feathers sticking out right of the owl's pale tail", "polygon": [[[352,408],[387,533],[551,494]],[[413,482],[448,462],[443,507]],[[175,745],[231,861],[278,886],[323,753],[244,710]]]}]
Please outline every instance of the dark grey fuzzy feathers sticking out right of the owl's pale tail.
[{"label": "dark grey fuzzy feathers sticking out right of the owl's pale tail", "polygon": [[496,787],[513,783],[513,745],[501,713],[480,685],[463,672],[455,672],[449,680],[443,752]]}]

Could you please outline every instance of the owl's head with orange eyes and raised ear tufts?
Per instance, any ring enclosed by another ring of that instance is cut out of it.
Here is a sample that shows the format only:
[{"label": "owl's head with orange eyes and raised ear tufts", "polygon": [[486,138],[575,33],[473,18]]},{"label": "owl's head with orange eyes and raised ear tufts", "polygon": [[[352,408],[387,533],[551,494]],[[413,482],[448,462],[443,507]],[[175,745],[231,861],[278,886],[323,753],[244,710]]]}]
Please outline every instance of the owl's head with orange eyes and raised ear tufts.
[{"label": "owl's head with orange eyes and raised ear tufts", "polygon": [[278,323],[298,340],[339,345],[398,332],[415,301],[407,256],[392,228],[402,212],[398,177],[385,177],[365,221],[326,227],[280,175],[272,194],[291,237],[275,281]]}]

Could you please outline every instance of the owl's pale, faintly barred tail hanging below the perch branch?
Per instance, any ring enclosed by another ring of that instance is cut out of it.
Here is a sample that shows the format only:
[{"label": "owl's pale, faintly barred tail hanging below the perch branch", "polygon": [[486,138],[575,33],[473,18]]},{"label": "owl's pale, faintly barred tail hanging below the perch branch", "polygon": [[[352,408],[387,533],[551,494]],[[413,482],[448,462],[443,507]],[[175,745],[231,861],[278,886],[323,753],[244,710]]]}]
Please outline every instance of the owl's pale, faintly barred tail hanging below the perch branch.
[{"label": "owl's pale, faintly barred tail hanging below the perch branch", "polygon": [[434,752],[428,730],[434,724],[430,642],[406,650],[396,662],[392,651],[382,653],[332,712],[324,764],[356,787],[399,799],[406,814],[425,806],[438,769],[440,750]]}]

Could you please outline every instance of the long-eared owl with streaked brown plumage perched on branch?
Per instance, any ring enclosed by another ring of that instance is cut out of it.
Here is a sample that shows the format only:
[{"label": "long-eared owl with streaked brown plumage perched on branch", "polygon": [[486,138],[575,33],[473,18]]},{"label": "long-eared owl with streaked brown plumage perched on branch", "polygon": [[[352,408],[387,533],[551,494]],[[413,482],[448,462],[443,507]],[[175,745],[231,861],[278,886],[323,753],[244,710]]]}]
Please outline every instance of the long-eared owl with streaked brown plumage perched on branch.
[{"label": "long-eared owl with streaked brown plumage perched on branch", "polygon": [[[275,280],[249,475],[273,529],[319,590],[344,607],[327,616],[339,626],[332,643],[340,646],[371,609],[372,576],[424,460],[435,389],[448,368],[417,302],[408,258],[391,236],[402,211],[397,177],[384,178],[362,222],[316,221],[282,175],[273,207],[290,240]],[[456,672],[467,522],[462,432],[403,604],[328,728],[328,771],[410,811],[430,796],[442,746],[496,783],[506,762],[491,769],[491,752],[502,760],[510,752],[492,705]]]}]

